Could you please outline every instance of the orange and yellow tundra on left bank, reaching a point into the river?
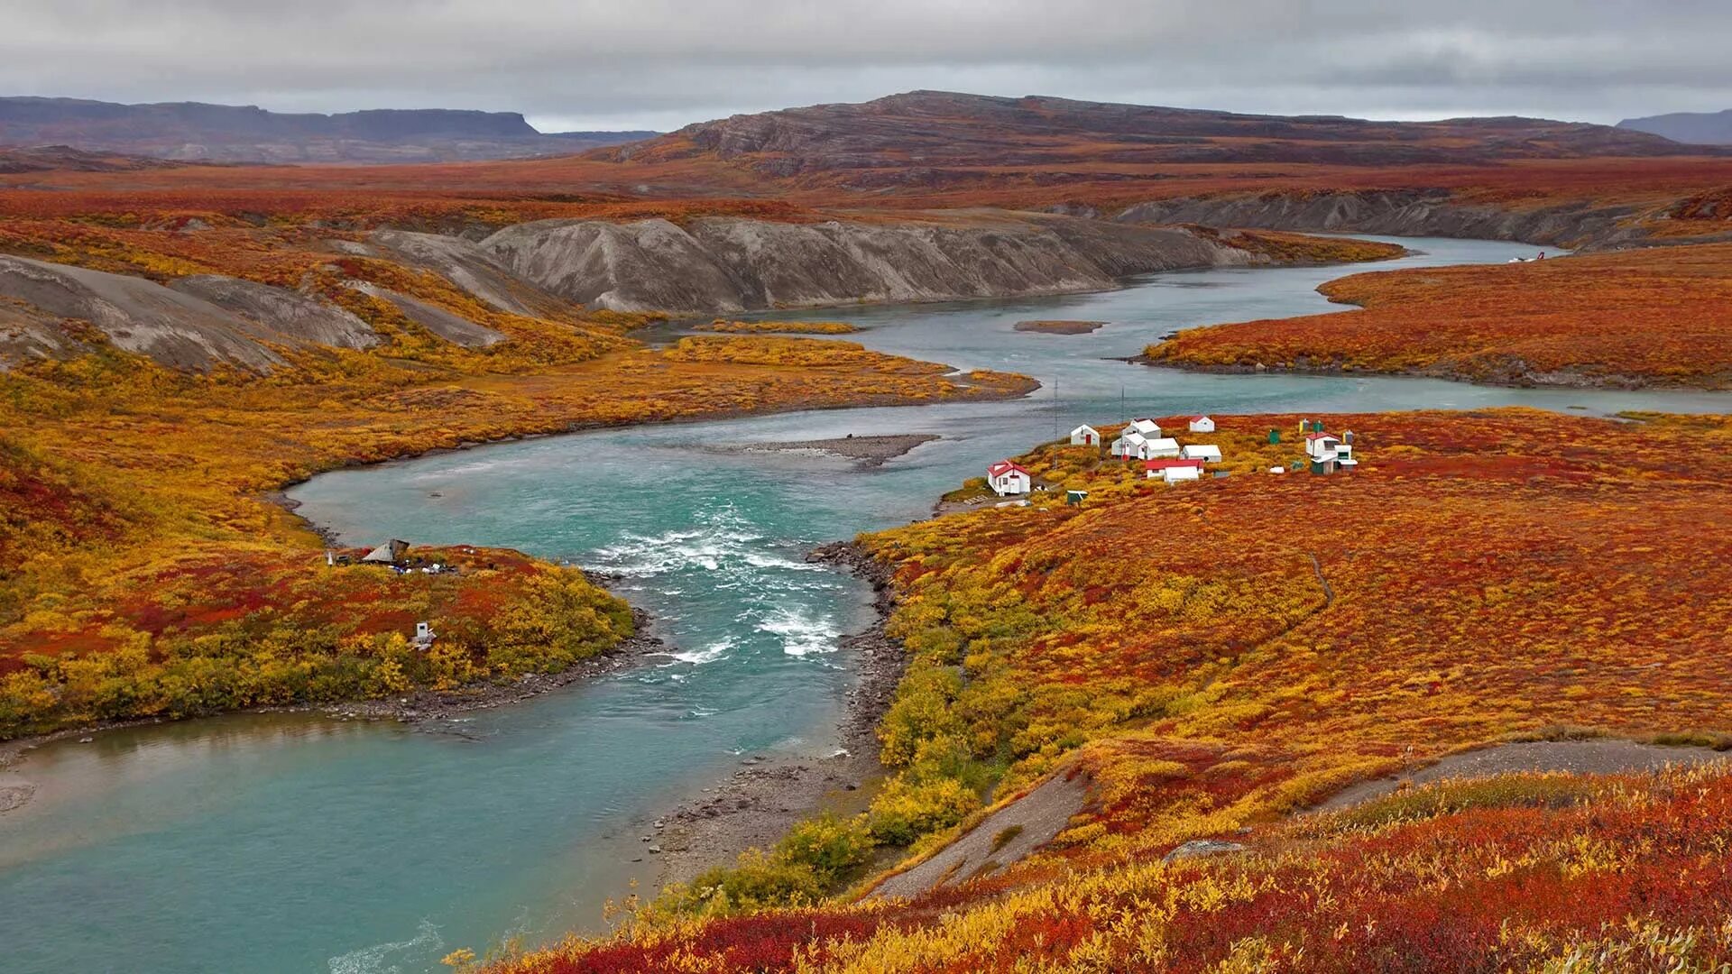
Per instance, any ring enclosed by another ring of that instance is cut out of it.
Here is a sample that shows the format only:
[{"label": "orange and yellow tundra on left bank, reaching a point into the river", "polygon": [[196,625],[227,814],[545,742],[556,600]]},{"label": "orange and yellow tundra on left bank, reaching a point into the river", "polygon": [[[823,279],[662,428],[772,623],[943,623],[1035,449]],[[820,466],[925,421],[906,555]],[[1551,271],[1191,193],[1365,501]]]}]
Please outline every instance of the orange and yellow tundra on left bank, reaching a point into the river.
[{"label": "orange and yellow tundra on left bank, reaching a point into the river", "polygon": [[[0,251],[291,288],[378,336],[367,348],[267,341],[268,371],[201,373],[126,352],[88,321],[0,303],[0,738],[459,690],[565,669],[632,633],[624,603],[578,572],[509,551],[417,551],[459,568],[433,575],[327,567],[324,542],[267,499],[315,471],[580,426],[1031,386],[814,338],[650,350],[630,338],[644,315],[537,295],[523,298],[535,314],[511,314],[343,241],[218,213],[0,217]],[[449,341],[428,314],[504,340]],[[57,348],[5,355],[33,334]],[[433,650],[407,643],[419,620],[438,633]]]}]

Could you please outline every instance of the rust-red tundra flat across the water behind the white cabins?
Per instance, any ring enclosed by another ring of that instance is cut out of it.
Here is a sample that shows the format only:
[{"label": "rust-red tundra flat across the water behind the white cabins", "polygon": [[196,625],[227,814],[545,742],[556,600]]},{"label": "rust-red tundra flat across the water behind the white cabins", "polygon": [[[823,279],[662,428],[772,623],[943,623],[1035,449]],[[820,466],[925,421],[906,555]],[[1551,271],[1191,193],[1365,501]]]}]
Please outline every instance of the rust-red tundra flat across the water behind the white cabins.
[{"label": "rust-red tundra flat across the water behind the white cabins", "polygon": [[1732,244],[1354,274],[1363,310],[1181,331],[1155,364],[1732,388]]}]

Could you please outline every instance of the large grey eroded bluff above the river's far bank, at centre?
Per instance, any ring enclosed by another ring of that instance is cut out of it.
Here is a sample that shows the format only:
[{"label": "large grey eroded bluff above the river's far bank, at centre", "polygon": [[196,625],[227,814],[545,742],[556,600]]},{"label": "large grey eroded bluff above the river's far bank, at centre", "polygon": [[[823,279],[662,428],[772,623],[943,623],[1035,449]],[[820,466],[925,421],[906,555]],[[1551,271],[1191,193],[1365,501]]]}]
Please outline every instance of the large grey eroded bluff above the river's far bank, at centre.
[{"label": "large grey eroded bluff above the river's far bank, at centre", "polygon": [[481,248],[573,302],[681,314],[1053,295],[1128,274],[1263,262],[1181,229],[1041,213],[895,225],[707,217],[684,229],[544,220],[506,227]]}]

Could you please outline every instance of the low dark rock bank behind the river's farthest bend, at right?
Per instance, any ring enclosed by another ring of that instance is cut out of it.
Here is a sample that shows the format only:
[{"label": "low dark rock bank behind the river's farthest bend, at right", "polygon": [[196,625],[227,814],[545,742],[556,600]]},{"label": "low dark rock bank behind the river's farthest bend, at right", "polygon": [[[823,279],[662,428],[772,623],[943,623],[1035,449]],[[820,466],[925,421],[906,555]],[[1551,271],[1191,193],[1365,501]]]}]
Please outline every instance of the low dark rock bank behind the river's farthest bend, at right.
[{"label": "low dark rock bank behind the river's farthest bend, at right", "polygon": [[1119,213],[1124,224],[1205,224],[1270,231],[1351,231],[1363,234],[1479,237],[1607,250],[1647,243],[1645,231],[1623,227],[1637,206],[1571,203],[1509,210],[1458,203],[1448,191],[1339,191],[1320,194],[1178,198],[1140,203]]}]

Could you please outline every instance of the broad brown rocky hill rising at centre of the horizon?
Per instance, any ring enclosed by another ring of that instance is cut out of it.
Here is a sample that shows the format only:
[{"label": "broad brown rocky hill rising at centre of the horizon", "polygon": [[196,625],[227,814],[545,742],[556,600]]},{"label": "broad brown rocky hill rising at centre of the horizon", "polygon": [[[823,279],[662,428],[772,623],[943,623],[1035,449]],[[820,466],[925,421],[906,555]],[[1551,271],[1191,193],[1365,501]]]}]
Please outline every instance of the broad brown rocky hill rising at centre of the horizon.
[{"label": "broad brown rocky hill rising at centre of the horizon", "polygon": [[1645,132],[1538,118],[1367,121],[1082,102],[1041,95],[908,92],[688,125],[610,159],[740,159],[778,175],[854,170],[857,187],[956,166],[1148,163],[1422,165],[1673,156]]}]

